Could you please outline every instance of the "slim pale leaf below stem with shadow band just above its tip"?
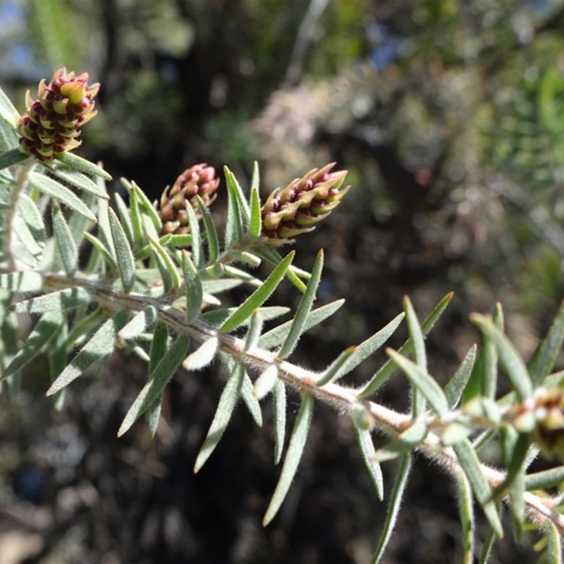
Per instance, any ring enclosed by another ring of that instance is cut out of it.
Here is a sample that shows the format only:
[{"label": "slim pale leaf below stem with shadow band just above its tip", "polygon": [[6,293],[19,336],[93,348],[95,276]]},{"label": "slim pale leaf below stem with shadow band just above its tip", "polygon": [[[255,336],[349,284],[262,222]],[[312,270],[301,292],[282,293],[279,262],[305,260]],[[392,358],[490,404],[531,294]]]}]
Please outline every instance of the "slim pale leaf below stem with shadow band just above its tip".
[{"label": "slim pale leaf below stem with shadow band just above its tip", "polygon": [[223,433],[227,429],[231,415],[233,415],[233,410],[235,405],[237,405],[237,400],[239,399],[241,387],[243,386],[243,379],[245,378],[245,369],[243,364],[237,362],[235,370],[229,377],[223,392],[221,393],[221,398],[219,398],[219,403],[217,405],[216,413],[212,424],[207,432],[206,439],[200,448],[200,452],[197,455],[196,462],[194,465],[194,473],[197,474],[206,463],[207,459],[212,455]]}]

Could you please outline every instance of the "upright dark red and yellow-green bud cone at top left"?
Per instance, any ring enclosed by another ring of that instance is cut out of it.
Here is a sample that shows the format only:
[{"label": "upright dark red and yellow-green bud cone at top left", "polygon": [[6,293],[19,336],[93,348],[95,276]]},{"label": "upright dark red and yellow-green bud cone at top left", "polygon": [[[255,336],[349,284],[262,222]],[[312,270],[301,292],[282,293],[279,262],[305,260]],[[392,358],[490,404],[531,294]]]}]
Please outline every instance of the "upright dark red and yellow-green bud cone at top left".
[{"label": "upright dark red and yellow-green bud cone at top left", "polygon": [[80,145],[80,127],[96,114],[94,97],[99,84],[88,85],[88,74],[56,71],[47,85],[39,82],[34,100],[28,91],[27,114],[18,123],[20,149],[37,160],[50,162],[56,154],[71,151]]}]

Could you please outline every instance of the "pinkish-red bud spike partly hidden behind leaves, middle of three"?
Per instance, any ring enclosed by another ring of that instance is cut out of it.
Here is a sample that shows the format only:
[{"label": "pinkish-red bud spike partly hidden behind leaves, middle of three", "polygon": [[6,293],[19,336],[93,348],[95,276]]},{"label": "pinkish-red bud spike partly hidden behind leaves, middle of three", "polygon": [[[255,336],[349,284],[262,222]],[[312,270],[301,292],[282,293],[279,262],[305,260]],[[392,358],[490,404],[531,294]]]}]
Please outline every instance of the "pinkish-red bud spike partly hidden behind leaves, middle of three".
[{"label": "pinkish-red bud spike partly hidden behind leaves, middle of three", "polygon": [[195,164],[176,178],[172,188],[167,186],[164,189],[159,209],[163,223],[161,235],[168,233],[181,235],[190,232],[185,204],[190,202],[196,216],[200,217],[196,197],[200,196],[207,206],[214,202],[219,186],[219,178],[215,176],[216,171],[213,166],[207,166],[205,163]]}]

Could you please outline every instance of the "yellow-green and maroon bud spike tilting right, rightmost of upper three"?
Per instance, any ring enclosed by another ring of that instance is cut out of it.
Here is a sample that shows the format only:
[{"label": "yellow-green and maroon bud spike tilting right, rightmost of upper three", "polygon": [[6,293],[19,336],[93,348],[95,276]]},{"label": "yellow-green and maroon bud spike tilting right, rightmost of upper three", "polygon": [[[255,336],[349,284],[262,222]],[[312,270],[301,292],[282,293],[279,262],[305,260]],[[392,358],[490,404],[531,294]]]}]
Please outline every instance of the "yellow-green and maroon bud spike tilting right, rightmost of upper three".
[{"label": "yellow-green and maroon bud spike tilting right, rightmost of upper three", "polygon": [[330,172],[335,163],[314,168],[286,188],[271,192],[262,206],[262,235],[271,245],[314,229],[341,202],[350,186],[341,190],[347,171]]}]

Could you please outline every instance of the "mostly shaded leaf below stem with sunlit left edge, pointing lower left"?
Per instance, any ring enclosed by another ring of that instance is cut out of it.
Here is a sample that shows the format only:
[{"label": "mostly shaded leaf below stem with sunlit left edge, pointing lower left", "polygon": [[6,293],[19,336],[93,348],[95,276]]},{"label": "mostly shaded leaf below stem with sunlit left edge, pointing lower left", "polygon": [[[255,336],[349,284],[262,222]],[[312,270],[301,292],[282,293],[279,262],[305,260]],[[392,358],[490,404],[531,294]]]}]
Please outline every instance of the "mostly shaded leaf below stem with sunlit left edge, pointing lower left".
[{"label": "mostly shaded leaf below stem with sunlit left edge, pointing lower left", "polygon": [[149,407],[154,403],[157,398],[161,396],[168,381],[174,376],[174,373],[180,366],[188,350],[190,338],[186,335],[180,335],[166,351],[166,354],[161,358],[157,367],[151,374],[151,378],[143,386],[133,405],[125,414],[121,427],[118,430],[118,436],[126,433],[130,427],[145,413]]}]

